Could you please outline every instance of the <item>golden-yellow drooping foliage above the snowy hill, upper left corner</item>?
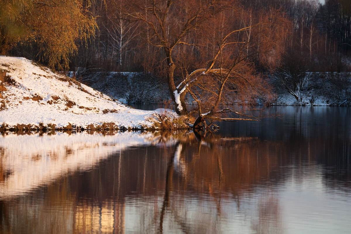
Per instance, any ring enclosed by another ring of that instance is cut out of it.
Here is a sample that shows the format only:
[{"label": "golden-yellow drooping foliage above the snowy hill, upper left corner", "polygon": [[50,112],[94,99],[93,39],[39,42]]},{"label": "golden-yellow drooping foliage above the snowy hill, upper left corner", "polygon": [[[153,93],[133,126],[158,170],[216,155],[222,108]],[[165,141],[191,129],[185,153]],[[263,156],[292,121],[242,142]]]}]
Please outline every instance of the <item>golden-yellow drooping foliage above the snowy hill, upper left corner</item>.
[{"label": "golden-yellow drooping foliage above the snowy hill, upper left corner", "polygon": [[0,53],[16,43],[39,49],[39,58],[51,68],[68,68],[69,57],[77,52],[77,41],[94,34],[95,19],[83,0],[2,0],[0,5]]}]

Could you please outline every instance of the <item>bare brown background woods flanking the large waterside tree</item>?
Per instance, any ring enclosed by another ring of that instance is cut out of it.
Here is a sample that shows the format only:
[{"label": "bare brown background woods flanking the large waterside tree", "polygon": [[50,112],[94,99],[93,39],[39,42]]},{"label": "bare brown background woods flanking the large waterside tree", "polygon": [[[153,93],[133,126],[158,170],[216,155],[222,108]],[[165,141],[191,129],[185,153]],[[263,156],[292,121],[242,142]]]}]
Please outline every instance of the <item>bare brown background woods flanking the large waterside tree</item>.
[{"label": "bare brown background woods flanking the large waterside tree", "polygon": [[[71,66],[89,67],[94,64],[107,70],[135,71],[150,65],[145,64],[148,62],[145,60],[153,55],[150,55],[150,44],[145,42],[153,35],[152,29],[128,18],[126,12],[118,8],[119,2],[123,5],[131,3],[115,0],[94,2],[91,9],[98,30],[94,39],[85,48],[81,47],[79,57]],[[141,3],[145,5],[148,1],[141,1],[139,5]],[[293,62],[310,71],[347,69],[346,58],[351,49],[350,1],[326,0],[321,5],[318,0],[249,0],[227,1],[226,4],[236,9],[241,6],[243,11],[237,11],[237,15],[246,24],[250,22],[250,17],[256,18],[258,14],[269,13],[272,9],[285,14],[292,23],[285,35],[286,56],[283,61],[286,66]],[[199,32],[197,34],[201,36]],[[191,52],[195,53],[196,50]]]}]

